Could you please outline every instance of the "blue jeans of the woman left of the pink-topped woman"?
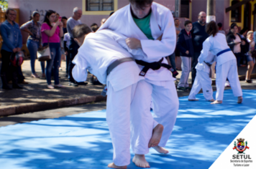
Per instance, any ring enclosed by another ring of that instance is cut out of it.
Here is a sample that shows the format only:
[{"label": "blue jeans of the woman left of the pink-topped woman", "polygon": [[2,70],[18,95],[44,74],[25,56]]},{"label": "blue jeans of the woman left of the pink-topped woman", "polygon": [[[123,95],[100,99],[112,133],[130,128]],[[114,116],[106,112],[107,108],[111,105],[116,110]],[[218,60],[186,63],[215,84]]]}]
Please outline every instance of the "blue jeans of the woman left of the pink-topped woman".
[{"label": "blue jeans of the woman left of the pink-topped woman", "polygon": [[[39,42],[32,39],[27,40],[27,48],[30,54],[30,67],[32,74],[35,74],[35,59],[37,59],[37,49],[39,47]],[[42,73],[45,73],[45,63],[41,62]]]}]

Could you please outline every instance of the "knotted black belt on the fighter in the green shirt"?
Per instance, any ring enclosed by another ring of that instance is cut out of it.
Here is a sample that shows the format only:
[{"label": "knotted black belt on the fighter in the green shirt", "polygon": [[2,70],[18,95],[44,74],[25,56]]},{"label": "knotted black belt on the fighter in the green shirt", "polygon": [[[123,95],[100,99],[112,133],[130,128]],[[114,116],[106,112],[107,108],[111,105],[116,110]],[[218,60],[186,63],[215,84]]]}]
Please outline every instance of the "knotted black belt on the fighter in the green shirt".
[{"label": "knotted black belt on the fighter in the green shirt", "polygon": [[144,66],[142,71],[140,72],[140,76],[142,77],[145,77],[149,69],[157,70],[157,69],[160,69],[160,67],[165,67],[166,69],[170,70],[170,72],[173,73],[173,77],[176,77],[178,75],[178,72],[175,69],[173,69],[173,67],[171,67],[169,64],[162,63],[163,58],[160,59],[160,61],[158,62],[151,62],[151,63],[144,62],[142,60],[135,60],[135,61],[137,64]]}]

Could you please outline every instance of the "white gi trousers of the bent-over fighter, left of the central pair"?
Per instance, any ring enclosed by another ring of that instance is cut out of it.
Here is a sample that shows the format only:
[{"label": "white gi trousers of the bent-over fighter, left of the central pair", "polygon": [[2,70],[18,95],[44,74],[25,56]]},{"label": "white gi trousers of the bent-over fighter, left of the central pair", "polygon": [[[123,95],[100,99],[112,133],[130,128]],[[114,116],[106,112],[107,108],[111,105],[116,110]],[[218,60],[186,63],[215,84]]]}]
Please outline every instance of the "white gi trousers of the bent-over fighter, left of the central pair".
[{"label": "white gi trousers of the bent-over fighter, left of the central pair", "polygon": [[[114,164],[118,166],[129,165],[131,158],[129,152],[130,115],[131,120],[137,120],[137,122],[140,122],[140,118],[142,117],[140,112],[131,112],[130,114],[130,110],[136,110],[137,108],[134,107],[137,106],[137,104],[134,104],[134,98],[139,97],[136,101],[140,100],[140,102],[142,102],[143,98],[141,97],[142,95],[140,95],[140,91],[143,91],[143,87],[147,83],[145,80],[140,80],[119,91],[114,91],[110,82],[107,82],[107,84],[106,122],[109,125],[109,132],[114,148],[113,161]],[[148,109],[150,109],[150,107],[148,107]],[[147,112],[150,112],[150,110]],[[137,113],[137,115],[134,113]],[[138,116],[139,119],[135,119],[136,116]],[[147,117],[148,119],[143,119],[145,123],[152,123],[152,115],[147,115]],[[152,127],[149,130],[151,130],[150,134],[152,134]],[[150,134],[147,133],[147,135]],[[148,143],[146,145],[148,145]]]}]

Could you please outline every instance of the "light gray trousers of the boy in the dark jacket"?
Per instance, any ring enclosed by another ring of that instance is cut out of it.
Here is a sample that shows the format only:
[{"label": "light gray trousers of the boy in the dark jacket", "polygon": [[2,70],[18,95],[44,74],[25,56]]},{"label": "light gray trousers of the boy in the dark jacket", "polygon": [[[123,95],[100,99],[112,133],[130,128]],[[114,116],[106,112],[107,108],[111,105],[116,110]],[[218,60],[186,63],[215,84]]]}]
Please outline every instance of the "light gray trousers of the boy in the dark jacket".
[{"label": "light gray trousers of the boy in the dark jacket", "polygon": [[181,77],[178,87],[188,87],[188,76],[191,72],[191,57],[181,57]]}]

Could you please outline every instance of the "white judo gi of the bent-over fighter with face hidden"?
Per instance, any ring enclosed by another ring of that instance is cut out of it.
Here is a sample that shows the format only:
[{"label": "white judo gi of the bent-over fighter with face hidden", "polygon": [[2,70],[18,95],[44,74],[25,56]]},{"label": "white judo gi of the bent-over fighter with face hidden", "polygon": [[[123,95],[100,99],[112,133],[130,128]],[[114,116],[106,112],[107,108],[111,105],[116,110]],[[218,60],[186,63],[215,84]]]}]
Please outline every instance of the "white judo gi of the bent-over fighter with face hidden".
[{"label": "white judo gi of the bent-over fighter with face hidden", "polygon": [[[146,82],[144,77],[139,76],[140,69],[135,62],[119,64],[107,76],[107,68],[116,59],[132,57],[116,41],[124,41],[122,44],[125,44],[125,38],[121,37],[120,40],[119,34],[107,29],[88,34],[73,59],[73,64],[76,65],[72,74],[77,82],[83,82],[86,81],[88,69],[99,82],[107,85],[106,122],[114,148],[113,160],[115,165],[122,166],[130,163],[130,110],[136,109],[134,98],[142,100],[140,91],[144,90]],[[145,119],[153,123],[150,113]]]}]

